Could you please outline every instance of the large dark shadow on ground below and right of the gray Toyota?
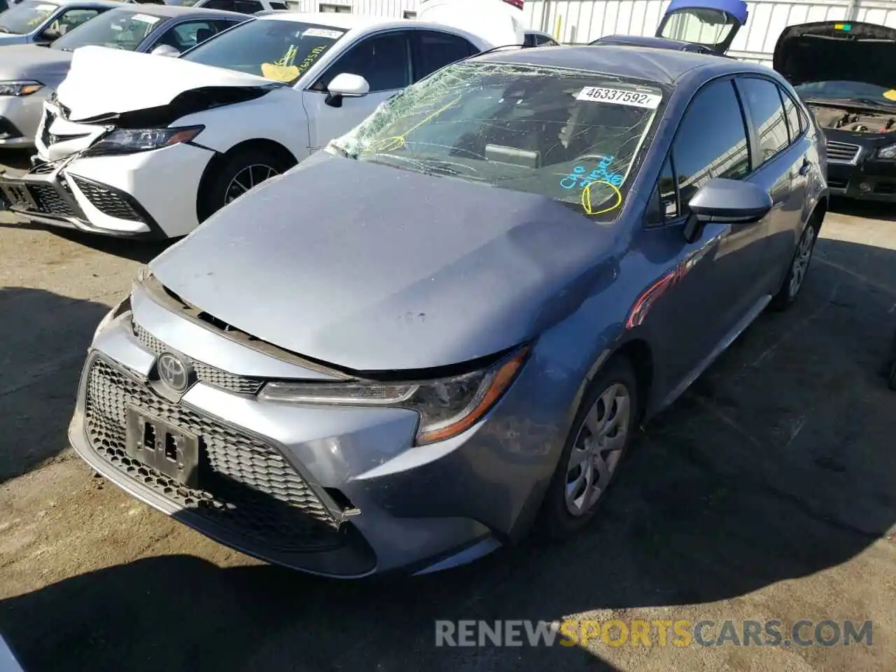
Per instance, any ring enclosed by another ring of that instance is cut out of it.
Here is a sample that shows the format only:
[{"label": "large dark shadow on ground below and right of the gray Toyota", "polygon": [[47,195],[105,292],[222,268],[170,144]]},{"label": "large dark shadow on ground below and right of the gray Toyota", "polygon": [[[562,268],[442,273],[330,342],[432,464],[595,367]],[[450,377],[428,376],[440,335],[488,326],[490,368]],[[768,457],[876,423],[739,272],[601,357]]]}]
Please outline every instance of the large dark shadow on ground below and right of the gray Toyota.
[{"label": "large dark shadow on ground below and right of the gray Toyota", "polygon": [[[852,271],[880,254],[890,270],[874,272],[885,275]],[[644,428],[599,519],[565,544],[527,541],[452,572],[362,582],[146,557],[4,600],[0,632],[29,672],[112,661],[134,671],[613,669],[578,648],[436,647],[435,621],[733,599],[845,563],[885,536],[896,522],[896,416],[878,369],[896,328],[893,274],[896,252],[819,240],[797,305],[763,314]],[[47,418],[60,441],[65,421]]]}]

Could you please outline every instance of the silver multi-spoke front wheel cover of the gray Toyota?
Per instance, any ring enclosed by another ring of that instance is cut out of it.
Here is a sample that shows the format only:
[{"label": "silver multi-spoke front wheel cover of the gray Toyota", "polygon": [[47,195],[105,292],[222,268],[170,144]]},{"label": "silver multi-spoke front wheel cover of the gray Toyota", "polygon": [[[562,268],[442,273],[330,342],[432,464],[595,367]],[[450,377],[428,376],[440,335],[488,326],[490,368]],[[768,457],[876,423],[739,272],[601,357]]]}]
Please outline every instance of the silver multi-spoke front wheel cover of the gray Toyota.
[{"label": "silver multi-spoke front wheel cover of the gray Toyota", "polygon": [[631,413],[628,388],[612,383],[582,420],[566,467],[566,509],[573,516],[588,513],[607,489],[625,449]]}]

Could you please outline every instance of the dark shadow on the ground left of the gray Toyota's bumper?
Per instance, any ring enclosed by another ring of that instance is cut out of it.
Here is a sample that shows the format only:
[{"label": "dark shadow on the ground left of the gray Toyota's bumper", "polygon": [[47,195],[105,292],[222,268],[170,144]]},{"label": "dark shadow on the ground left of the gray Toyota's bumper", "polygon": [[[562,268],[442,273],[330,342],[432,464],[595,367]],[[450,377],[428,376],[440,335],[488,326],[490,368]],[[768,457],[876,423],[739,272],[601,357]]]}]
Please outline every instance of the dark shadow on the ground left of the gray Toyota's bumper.
[{"label": "dark shadow on the ground left of the gray Toyota's bumper", "polygon": [[84,356],[107,313],[44,289],[0,287],[0,483],[68,447]]}]

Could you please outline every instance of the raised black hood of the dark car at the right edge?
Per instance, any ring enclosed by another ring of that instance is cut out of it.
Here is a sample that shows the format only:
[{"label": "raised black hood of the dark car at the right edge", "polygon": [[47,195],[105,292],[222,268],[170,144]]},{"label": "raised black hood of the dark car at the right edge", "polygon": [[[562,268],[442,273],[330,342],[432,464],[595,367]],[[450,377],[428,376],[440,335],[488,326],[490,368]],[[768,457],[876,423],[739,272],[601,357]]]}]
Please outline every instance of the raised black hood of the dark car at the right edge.
[{"label": "raised black hood of the dark car at the right edge", "polygon": [[849,81],[896,87],[893,54],[892,28],[858,22],[802,23],[781,32],[773,66],[794,86]]}]

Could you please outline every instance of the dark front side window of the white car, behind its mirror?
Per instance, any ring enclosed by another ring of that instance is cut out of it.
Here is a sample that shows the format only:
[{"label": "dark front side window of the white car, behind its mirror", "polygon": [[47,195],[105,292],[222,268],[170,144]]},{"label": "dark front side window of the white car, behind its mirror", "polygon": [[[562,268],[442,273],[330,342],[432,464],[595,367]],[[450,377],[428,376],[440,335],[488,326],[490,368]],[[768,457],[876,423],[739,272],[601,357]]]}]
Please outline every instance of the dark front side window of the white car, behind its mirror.
[{"label": "dark front side window of the white car, behind its mirror", "polygon": [[364,39],[340,56],[314,90],[326,90],[337,74],[359,74],[370,84],[370,92],[403,89],[410,83],[408,39],[404,32],[392,32]]}]

